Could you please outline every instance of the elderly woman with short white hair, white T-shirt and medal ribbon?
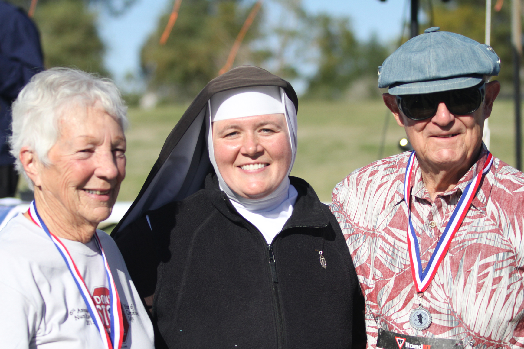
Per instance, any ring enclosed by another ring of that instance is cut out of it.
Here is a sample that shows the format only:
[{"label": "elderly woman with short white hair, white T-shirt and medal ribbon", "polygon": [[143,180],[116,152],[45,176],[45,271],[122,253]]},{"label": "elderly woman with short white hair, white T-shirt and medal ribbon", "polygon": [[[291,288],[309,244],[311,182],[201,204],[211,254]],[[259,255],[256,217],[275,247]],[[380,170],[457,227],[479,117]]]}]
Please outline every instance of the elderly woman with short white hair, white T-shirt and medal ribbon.
[{"label": "elderly woman with short white hair, white T-shirt and medal ribbon", "polygon": [[107,79],[31,78],[13,104],[16,166],[35,192],[0,231],[0,342],[7,348],[152,348],[122,255],[96,230],[125,176],[126,107]]}]

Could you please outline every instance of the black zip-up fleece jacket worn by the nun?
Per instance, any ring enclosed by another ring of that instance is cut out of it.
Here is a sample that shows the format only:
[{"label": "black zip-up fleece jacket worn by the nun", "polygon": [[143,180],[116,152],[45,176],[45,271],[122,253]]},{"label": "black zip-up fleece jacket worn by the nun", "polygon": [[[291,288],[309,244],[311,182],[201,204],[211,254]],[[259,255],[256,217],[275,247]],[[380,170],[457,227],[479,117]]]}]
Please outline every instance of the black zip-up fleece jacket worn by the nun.
[{"label": "black zip-up fleece jacket worn by the nun", "polygon": [[139,294],[155,294],[157,348],[365,347],[364,300],[339,224],[308,183],[290,180],[297,201],[271,244],[212,174],[205,189],[115,237]]}]

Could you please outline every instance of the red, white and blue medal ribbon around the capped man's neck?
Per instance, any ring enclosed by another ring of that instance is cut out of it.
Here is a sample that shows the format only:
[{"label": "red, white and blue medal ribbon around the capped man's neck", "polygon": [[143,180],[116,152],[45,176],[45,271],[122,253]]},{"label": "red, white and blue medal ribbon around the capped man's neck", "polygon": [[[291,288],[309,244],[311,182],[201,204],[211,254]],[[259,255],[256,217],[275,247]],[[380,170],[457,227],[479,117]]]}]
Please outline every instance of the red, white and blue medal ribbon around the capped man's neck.
[{"label": "red, white and blue medal ribbon around the capped man's neck", "polygon": [[444,259],[444,256],[450,247],[451,240],[455,236],[455,233],[459,230],[464,217],[466,217],[466,213],[468,209],[470,209],[471,202],[475,197],[478,186],[481,184],[482,176],[489,171],[489,168],[493,163],[493,155],[488,152],[482,171],[479,171],[477,175],[470,179],[470,181],[466,184],[464,192],[462,193],[459,202],[453,210],[450,220],[447,222],[446,228],[444,229],[439,242],[436,244],[435,250],[433,251],[428,265],[424,270],[422,270],[422,264],[420,262],[419,241],[417,239],[417,235],[415,234],[413,223],[411,222],[410,189],[411,178],[413,176],[414,158],[415,151],[412,151],[411,155],[409,156],[408,165],[406,166],[406,178],[404,179],[404,201],[408,206],[408,247],[410,257],[409,259],[411,263],[411,274],[413,276],[413,280],[415,281],[417,292],[424,292],[431,283],[431,280],[433,280],[440,263],[442,263],[442,260]]}]

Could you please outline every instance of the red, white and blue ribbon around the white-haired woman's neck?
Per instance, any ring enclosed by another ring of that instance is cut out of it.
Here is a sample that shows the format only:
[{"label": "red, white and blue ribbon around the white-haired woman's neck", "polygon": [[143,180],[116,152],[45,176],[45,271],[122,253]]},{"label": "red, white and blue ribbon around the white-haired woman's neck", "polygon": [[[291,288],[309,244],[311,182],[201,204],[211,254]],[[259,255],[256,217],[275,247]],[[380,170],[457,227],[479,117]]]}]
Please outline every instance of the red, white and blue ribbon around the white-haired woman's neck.
[{"label": "red, white and blue ribbon around the white-haired woman's neck", "polygon": [[96,306],[93,302],[93,299],[91,298],[89,289],[85,285],[84,278],[78,271],[77,265],[74,263],[73,258],[69,254],[68,249],[60,241],[60,239],[58,239],[53,233],[49,231],[46,224],[43,222],[42,218],[38,214],[35,201],[31,201],[28,212],[32,221],[35,224],[37,224],[37,226],[42,228],[47,233],[49,238],[54,242],[54,245],[57,246],[58,252],[60,252],[60,254],[62,255],[65,264],[67,265],[69,271],[71,272],[71,275],[73,276],[74,282],[77,284],[77,287],[80,291],[80,295],[82,295],[82,298],[85,301],[85,305],[88,307],[91,319],[93,320],[96,329],[100,332],[100,337],[102,338],[104,347],[106,347],[107,349],[120,349],[122,347],[122,340],[124,337],[124,321],[122,318],[124,315],[122,314],[122,307],[120,304],[120,298],[118,297],[118,291],[116,290],[115,281],[113,279],[113,275],[111,274],[111,269],[107,264],[107,258],[105,257],[104,249],[102,247],[102,244],[100,243],[100,239],[97,233],[95,232],[93,237],[95,239],[96,245],[99,247],[100,252],[102,254],[102,258],[104,260],[105,275],[109,284],[109,295],[111,304],[111,333],[107,333],[107,331],[105,330],[104,321],[100,316],[100,313],[96,310]]}]

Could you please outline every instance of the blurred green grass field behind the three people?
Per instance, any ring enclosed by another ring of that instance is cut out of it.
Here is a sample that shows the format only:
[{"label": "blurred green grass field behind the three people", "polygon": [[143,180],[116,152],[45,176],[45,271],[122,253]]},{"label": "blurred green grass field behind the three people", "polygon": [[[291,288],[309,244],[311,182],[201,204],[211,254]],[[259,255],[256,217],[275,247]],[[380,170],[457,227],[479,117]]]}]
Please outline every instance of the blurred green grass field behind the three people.
[{"label": "blurred green grass field behind the three people", "polygon": [[[129,109],[127,175],[118,200],[135,199],[163,142],[185,108]],[[308,181],[321,200],[330,201],[331,189],[338,182],[356,168],[378,159],[386,117],[389,127],[383,157],[400,152],[397,143],[405,133],[381,100],[301,102],[298,155],[291,174]],[[495,102],[489,118],[491,150],[510,165],[515,164],[513,118],[509,100]]]}]

